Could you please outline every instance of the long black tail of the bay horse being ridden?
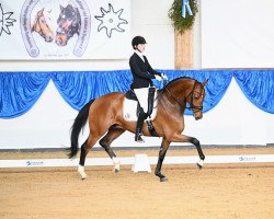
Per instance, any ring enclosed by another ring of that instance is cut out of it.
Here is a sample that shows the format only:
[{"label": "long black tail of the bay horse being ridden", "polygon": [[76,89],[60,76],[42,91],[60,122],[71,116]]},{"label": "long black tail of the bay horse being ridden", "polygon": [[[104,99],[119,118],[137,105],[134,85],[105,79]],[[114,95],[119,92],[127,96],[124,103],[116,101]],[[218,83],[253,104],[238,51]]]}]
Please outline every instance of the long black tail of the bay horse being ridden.
[{"label": "long black tail of the bay horse being ridden", "polygon": [[70,142],[71,146],[69,148],[70,152],[68,154],[68,157],[75,158],[77,155],[78,152],[78,137],[79,134],[81,131],[81,129],[83,128],[83,126],[85,125],[88,117],[89,117],[89,111],[90,111],[90,105],[94,102],[94,100],[91,100],[89,103],[87,103],[78,113],[75,123],[71,127],[71,134],[70,134]]}]

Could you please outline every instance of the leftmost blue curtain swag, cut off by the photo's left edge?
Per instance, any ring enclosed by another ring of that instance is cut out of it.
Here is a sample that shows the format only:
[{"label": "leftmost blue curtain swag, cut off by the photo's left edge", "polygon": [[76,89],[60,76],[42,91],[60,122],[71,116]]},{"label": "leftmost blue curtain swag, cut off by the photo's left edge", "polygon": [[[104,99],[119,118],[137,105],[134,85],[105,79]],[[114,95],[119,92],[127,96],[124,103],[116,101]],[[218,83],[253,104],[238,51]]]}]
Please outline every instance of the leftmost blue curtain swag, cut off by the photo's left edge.
[{"label": "leftmost blue curtain swag, cut off by the photo's left edge", "polygon": [[0,118],[14,118],[30,111],[49,79],[43,72],[0,72]]}]

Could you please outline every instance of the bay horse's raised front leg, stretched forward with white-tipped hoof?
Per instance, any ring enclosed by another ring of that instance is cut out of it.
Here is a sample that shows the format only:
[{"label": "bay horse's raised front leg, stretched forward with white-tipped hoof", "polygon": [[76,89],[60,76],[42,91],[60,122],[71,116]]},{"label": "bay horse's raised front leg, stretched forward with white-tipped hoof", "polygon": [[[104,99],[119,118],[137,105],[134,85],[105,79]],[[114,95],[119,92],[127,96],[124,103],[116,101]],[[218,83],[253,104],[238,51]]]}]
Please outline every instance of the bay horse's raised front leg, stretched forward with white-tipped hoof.
[{"label": "bay horse's raised front leg, stretched forward with white-tipped hoof", "polygon": [[201,170],[204,165],[204,160],[205,160],[205,155],[203,153],[203,150],[201,148],[199,141],[194,138],[194,137],[190,137],[190,136],[184,136],[181,134],[174,134],[172,137],[170,137],[169,139],[171,142],[190,142],[193,143],[198,152],[198,157],[199,157],[199,161],[196,163],[197,168]]}]

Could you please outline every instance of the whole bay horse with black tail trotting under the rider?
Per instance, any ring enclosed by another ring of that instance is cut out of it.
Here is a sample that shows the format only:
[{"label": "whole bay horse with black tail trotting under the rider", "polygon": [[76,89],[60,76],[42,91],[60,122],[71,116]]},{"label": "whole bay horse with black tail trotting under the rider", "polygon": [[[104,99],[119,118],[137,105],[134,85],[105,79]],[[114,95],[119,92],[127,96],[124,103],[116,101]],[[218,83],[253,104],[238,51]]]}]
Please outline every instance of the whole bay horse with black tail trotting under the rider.
[{"label": "whole bay horse with black tail trotting under the rider", "polygon": [[[171,142],[193,143],[198,152],[199,161],[197,166],[202,169],[205,155],[199,141],[190,136],[182,135],[184,130],[184,111],[189,108],[193,112],[195,119],[203,117],[203,102],[205,99],[204,82],[198,82],[192,78],[178,78],[170,81],[163,89],[158,90],[158,113],[152,124],[162,142],[159,151],[158,163],[155,174],[161,182],[168,178],[161,173],[162,162]],[[123,101],[125,93],[113,92],[87,103],[77,115],[71,128],[71,146],[69,158],[75,158],[78,152],[78,138],[81,129],[89,118],[90,134],[81,146],[81,154],[78,172],[82,178],[87,177],[84,172],[84,160],[90,149],[96,143],[104,148],[113,160],[115,172],[119,171],[119,161],[111,148],[111,143],[125,130],[135,132],[136,122],[127,122],[123,117]],[[189,106],[186,106],[189,103]],[[148,127],[144,124],[142,132],[150,136]]]}]

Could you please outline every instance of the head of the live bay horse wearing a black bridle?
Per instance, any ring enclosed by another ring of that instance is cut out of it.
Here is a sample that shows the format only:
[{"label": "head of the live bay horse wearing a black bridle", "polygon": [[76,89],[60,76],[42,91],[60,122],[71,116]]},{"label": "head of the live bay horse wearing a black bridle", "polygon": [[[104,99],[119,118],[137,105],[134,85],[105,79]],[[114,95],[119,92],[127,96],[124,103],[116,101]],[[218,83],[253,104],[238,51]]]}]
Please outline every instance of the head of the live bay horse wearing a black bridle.
[{"label": "head of the live bay horse wearing a black bridle", "polygon": [[205,85],[208,79],[203,83],[195,80],[194,85],[189,89],[191,92],[186,94],[185,101],[190,104],[187,107],[193,112],[193,116],[196,120],[203,118],[203,102],[205,99]]}]

